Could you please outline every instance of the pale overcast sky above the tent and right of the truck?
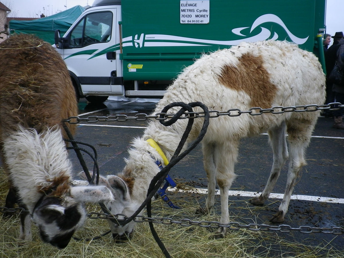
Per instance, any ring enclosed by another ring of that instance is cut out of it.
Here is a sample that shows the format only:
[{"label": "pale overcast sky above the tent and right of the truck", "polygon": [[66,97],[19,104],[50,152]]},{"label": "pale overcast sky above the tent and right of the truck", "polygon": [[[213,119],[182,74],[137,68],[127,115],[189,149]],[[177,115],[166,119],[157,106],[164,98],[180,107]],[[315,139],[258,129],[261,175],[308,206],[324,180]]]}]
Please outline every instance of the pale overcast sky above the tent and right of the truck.
[{"label": "pale overcast sky above the tent and right of the truck", "polygon": [[[0,0],[12,12],[10,17],[39,17],[52,15],[74,6],[92,6],[94,0]],[[144,1],[144,0],[142,0]],[[164,0],[161,0],[164,1]],[[297,8],[297,7],[295,7]],[[326,32],[334,35],[336,31],[344,31],[344,0],[327,0]],[[297,19],[297,17],[295,17]]]}]

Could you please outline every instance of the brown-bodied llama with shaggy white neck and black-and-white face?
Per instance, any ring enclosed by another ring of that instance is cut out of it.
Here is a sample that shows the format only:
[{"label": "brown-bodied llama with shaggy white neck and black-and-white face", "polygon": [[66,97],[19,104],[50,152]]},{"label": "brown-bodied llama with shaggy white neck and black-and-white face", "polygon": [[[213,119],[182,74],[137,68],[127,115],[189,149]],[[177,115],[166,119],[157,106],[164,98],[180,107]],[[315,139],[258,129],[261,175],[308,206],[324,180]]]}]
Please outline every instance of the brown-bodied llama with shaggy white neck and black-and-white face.
[{"label": "brown-bodied llama with shaggy white neck and black-and-white face", "polygon": [[[9,179],[6,207],[21,213],[20,239],[31,240],[31,217],[43,241],[68,245],[86,219],[84,202],[110,201],[105,186],[74,187],[62,119],[77,115],[74,88],[53,47],[35,36],[0,44],[0,147]],[[75,125],[68,124],[70,131]]]}]

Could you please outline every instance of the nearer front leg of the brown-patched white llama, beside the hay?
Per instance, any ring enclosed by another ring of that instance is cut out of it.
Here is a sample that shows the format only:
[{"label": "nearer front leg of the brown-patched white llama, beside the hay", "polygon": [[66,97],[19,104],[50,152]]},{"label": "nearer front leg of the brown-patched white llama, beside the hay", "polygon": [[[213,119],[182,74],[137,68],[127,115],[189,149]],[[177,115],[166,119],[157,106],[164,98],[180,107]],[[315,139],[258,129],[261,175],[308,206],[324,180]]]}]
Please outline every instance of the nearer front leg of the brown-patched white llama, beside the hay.
[{"label": "nearer front leg of the brown-patched white llama, beside the hay", "polygon": [[[228,212],[228,191],[236,175],[234,173],[234,164],[238,157],[238,142],[227,141],[217,144],[215,151],[216,181],[220,189],[221,199],[221,224],[229,223]],[[226,235],[227,228],[219,228],[221,235]]]}]

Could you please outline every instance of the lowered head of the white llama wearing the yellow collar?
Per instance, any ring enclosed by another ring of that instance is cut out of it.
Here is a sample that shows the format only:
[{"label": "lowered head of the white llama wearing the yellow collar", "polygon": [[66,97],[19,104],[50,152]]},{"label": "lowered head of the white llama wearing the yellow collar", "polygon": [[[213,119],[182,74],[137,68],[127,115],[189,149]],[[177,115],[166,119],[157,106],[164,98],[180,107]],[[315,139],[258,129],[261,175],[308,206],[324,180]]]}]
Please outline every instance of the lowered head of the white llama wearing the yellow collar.
[{"label": "lowered head of the white llama wearing the yellow collar", "polygon": [[[82,172],[79,174],[80,177],[86,179],[85,174]],[[107,207],[108,211],[112,215],[124,214],[127,217],[130,217],[141,203],[135,203],[132,201],[129,194],[128,183],[123,179],[115,175],[109,175],[107,178],[99,176],[99,185],[106,186],[111,190],[114,200],[105,201],[104,204]],[[119,216],[119,218],[122,218]],[[130,239],[133,234],[136,222],[131,221],[126,225],[119,226],[117,223],[112,222],[110,219],[107,219],[112,236],[115,241],[121,243]]]}]

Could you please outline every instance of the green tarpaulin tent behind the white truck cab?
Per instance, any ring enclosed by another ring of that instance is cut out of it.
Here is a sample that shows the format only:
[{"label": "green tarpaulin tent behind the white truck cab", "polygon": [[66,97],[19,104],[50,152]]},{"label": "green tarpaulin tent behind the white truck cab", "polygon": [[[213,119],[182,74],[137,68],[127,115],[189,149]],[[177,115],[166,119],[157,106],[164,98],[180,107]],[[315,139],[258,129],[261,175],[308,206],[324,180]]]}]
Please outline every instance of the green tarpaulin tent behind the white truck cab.
[{"label": "green tarpaulin tent behind the white truck cab", "polygon": [[63,12],[48,17],[31,21],[10,21],[10,31],[13,33],[35,34],[42,40],[54,44],[55,30],[60,30],[63,35],[79,15],[85,10],[82,6],[75,6]]}]

